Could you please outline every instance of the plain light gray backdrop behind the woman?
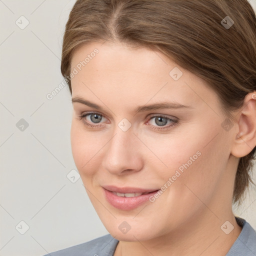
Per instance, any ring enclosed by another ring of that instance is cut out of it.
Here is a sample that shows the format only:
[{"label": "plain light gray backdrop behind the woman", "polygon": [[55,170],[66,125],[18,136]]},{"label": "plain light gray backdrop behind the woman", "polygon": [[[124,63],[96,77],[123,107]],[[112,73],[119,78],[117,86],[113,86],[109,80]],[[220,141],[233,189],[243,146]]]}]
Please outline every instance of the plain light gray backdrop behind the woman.
[{"label": "plain light gray backdrop behind the woman", "polygon": [[[74,2],[0,0],[0,256],[39,256],[107,233],[81,179],[67,178],[76,169],[68,87],[46,98],[63,81],[62,35]],[[28,127],[16,126],[21,118]],[[253,228],[255,194],[234,208]]]}]

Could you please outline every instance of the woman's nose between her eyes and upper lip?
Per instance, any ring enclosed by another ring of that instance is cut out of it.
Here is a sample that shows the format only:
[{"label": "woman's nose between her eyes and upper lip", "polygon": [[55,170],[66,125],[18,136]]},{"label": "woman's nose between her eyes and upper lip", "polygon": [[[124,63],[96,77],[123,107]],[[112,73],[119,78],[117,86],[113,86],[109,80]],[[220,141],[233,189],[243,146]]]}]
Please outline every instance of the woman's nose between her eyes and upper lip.
[{"label": "woman's nose between her eyes and upper lip", "polygon": [[139,139],[132,129],[122,131],[119,127],[104,147],[103,169],[111,174],[120,175],[139,171],[143,166]]}]

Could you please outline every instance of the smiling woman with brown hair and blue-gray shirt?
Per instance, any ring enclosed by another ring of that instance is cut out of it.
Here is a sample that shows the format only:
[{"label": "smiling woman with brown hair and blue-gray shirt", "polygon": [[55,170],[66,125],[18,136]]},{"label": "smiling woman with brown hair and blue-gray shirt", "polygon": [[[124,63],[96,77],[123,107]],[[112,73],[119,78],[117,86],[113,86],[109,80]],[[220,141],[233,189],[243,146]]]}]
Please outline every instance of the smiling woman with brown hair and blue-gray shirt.
[{"label": "smiling woman with brown hair and blue-gray shirt", "polygon": [[255,255],[234,216],[256,144],[246,0],[77,0],[61,72],[71,146],[108,235],[57,255]]}]

